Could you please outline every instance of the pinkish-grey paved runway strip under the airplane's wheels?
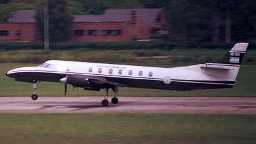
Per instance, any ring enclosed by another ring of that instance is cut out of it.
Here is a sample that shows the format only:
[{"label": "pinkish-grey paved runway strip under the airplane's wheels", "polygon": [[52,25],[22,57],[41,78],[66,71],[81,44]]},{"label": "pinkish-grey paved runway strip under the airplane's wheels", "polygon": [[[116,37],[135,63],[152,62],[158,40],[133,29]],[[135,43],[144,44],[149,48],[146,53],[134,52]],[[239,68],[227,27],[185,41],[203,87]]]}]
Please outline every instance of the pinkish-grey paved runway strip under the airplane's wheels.
[{"label": "pinkish-grey paved runway strip under the airplane's wheels", "polygon": [[256,97],[0,97],[0,113],[163,113],[255,115]]}]

